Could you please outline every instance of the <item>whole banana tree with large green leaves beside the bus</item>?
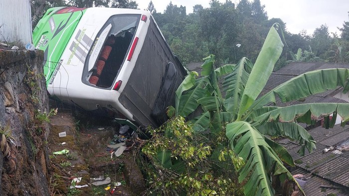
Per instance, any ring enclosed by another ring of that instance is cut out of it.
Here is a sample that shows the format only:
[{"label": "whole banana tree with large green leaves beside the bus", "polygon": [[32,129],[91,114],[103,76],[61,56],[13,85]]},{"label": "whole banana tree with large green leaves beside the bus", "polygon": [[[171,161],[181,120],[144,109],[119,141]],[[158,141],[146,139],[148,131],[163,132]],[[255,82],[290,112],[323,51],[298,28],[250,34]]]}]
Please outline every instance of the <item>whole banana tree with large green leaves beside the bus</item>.
[{"label": "whole banana tree with large green leaves beside the bus", "polygon": [[[213,138],[225,131],[231,149],[245,160],[245,166],[239,171],[239,182],[244,184],[244,193],[248,196],[274,195],[273,177],[297,184],[283,164],[294,166],[292,157],[266,135],[297,140],[302,145],[299,153],[304,154],[306,148],[312,152],[316,142],[297,122],[312,124],[319,117],[325,117],[330,127],[335,120],[330,120],[331,114],[340,115],[343,123],[349,120],[349,104],[345,103],[266,106],[275,103],[277,97],[286,102],[339,86],[344,87],[344,93],[349,90],[348,69],[327,69],[302,74],[259,97],[284,46],[278,31],[282,33],[280,25],[275,23],[254,64],[242,58],[236,65],[213,69],[214,55],[210,55],[204,59],[202,77],[196,78],[198,74],[191,72],[176,91],[175,114],[194,115],[193,129],[210,130]],[[218,80],[223,76],[224,82],[219,85]]]}]

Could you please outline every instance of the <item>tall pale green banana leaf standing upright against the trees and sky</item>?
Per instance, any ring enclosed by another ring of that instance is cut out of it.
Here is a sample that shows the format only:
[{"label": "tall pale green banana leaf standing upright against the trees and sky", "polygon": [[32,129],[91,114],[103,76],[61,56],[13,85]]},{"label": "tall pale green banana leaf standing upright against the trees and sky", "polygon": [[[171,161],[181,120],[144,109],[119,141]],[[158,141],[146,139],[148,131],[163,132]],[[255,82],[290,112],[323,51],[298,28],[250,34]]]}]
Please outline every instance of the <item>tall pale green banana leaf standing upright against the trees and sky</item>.
[{"label": "tall pale green banana leaf standing upright against the trees and sky", "polygon": [[277,28],[279,28],[279,24],[277,23],[270,28],[261,52],[253,66],[241,98],[237,120],[240,120],[240,116],[253,104],[254,100],[261,93],[274,69],[276,61],[282,53],[284,44],[277,32]]}]

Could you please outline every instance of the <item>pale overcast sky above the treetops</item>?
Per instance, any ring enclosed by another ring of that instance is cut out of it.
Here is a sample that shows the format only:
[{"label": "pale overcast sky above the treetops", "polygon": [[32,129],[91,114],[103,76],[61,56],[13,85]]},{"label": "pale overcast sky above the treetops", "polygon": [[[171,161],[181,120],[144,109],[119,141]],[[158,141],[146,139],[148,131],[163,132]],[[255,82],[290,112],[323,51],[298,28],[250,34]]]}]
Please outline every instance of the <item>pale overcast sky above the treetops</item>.
[{"label": "pale overcast sky above the treetops", "polygon": [[[138,7],[146,9],[150,0],[136,0]],[[171,0],[153,0],[158,12],[164,12]],[[225,0],[219,0],[225,2]],[[239,0],[231,0],[235,4]],[[251,0],[250,0],[251,1]],[[349,21],[349,0],[260,0],[265,5],[268,17],[281,18],[287,30],[291,33],[299,33],[302,29],[312,34],[315,28],[327,24],[330,32],[340,31],[337,27],[343,27],[344,21]],[[186,6],[186,13],[192,12],[195,4],[209,7],[209,0],[172,0],[177,6]]]}]

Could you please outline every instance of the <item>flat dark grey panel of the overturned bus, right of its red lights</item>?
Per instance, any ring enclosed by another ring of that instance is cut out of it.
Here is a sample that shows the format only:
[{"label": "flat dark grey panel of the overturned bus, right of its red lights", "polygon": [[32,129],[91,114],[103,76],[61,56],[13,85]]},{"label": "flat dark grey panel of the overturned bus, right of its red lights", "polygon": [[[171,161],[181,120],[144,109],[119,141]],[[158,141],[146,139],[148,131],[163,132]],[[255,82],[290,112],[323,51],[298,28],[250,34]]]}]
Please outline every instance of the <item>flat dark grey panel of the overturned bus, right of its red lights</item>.
[{"label": "flat dark grey panel of the overturned bus, right of its red lights", "polygon": [[[179,80],[183,80],[184,75],[179,71],[181,65],[177,64],[160,30],[151,20],[135,68],[119,98],[119,101],[134,115],[136,123],[154,127],[160,125],[151,114],[161,91],[166,67],[170,62],[174,63],[175,69],[179,73],[177,74]],[[174,83],[176,89],[179,84],[177,80],[174,80]],[[166,111],[164,111],[164,115],[166,115]]]}]

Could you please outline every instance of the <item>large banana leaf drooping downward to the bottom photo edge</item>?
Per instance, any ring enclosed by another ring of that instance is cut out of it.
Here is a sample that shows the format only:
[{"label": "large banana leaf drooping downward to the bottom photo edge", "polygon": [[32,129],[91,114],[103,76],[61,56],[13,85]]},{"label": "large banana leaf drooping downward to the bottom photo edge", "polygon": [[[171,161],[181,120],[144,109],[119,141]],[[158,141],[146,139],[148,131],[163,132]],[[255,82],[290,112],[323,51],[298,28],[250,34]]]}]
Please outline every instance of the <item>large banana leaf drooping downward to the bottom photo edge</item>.
[{"label": "large banana leaf drooping downward to the bottom photo edge", "polygon": [[[227,124],[226,136],[230,140],[231,148],[239,157],[247,160],[239,175],[240,183],[249,176],[244,185],[245,195],[273,196],[275,191],[270,176],[275,172],[283,174],[289,171],[265,141],[264,136],[244,121]],[[278,167],[274,167],[276,164]]]}]

